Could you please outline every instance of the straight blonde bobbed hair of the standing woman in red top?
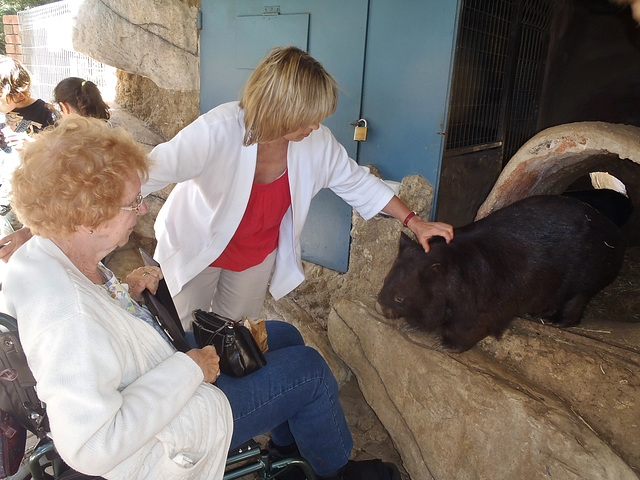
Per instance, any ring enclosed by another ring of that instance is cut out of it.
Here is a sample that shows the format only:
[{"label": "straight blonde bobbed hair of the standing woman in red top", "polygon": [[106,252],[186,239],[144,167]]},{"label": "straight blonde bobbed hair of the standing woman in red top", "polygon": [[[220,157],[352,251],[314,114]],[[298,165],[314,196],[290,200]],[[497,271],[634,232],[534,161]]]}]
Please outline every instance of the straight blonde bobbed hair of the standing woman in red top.
[{"label": "straight blonde bobbed hair of the standing woman in red top", "polygon": [[244,87],[244,145],[276,140],[322,122],[338,106],[338,85],[322,64],[297,47],[276,47]]}]

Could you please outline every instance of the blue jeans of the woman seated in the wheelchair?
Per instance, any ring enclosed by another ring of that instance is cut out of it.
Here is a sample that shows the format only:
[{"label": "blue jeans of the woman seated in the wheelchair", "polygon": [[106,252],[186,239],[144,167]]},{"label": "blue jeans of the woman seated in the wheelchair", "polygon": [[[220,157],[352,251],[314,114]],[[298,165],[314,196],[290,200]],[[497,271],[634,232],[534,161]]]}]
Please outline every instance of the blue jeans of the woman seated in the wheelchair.
[{"label": "blue jeans of the woman seated in the wheelchair", "polygon": [[349,460],[353,440],[327,362],[286,322],[267,321],[267,365],[244,378],[220,375],[216,385],[233,411],[235,448],[271,432],[276,445],[294,441],[318,475]]}]

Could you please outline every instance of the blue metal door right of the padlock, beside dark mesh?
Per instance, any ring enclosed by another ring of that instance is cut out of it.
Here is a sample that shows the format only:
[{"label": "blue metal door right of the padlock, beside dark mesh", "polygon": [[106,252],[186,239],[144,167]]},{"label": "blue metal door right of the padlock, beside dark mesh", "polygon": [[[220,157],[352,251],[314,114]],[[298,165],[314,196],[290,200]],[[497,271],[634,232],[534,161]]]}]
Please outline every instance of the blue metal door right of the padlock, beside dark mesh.
[{"label": "blue metal door right of the padlock, beside dark mesh", "polygon": [[358,162],[385,179],[418,174],[438,187],[460,4],[371,0]]}]

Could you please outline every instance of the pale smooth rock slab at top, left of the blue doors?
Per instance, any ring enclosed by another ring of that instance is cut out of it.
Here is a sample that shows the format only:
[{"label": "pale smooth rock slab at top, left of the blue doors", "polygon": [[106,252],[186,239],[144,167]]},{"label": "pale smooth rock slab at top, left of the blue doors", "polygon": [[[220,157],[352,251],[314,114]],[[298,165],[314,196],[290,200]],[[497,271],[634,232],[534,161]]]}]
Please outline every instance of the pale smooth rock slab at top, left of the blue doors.
[{"label": "pale smooth rock slab at top, left of the blue doors", "polygon": [[81,0],[74,48],[169,90],[200,88],[198,7],[176,0]]}]

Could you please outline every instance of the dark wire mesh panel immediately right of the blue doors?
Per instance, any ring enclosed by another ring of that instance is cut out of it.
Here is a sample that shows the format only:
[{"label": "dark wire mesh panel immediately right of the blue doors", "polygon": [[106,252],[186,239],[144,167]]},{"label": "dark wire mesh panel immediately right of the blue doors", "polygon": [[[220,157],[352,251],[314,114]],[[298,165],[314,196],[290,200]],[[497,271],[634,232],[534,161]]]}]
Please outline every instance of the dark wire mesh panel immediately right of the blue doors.
[{"label": "dark wire mesh panel immediately right of the blue doors", "polygon": [[509,159],[536,131],[554,0],[463,0],[448,153],[502,146]]}]

